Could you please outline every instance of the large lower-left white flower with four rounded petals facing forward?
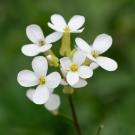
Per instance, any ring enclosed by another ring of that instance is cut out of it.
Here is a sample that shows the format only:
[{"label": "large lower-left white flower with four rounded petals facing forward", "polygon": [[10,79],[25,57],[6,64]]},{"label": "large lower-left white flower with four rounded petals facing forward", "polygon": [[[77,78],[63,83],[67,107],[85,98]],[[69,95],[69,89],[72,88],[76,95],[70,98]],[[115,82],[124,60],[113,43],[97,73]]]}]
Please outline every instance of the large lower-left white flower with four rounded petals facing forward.
[{"label": "large lower-left white flower with four rounded petals facing forward", "polygon": [[23,87],[37,86],[33,102],[36,104],[45,104],[50,98],[51,89],[55,89],[61,82],[61,76],[58,72],[47,74],[48,63],[45,57],[38,56],[32,61],[32,68],[30,70],[23,70],[19,72],[17,81]]}]

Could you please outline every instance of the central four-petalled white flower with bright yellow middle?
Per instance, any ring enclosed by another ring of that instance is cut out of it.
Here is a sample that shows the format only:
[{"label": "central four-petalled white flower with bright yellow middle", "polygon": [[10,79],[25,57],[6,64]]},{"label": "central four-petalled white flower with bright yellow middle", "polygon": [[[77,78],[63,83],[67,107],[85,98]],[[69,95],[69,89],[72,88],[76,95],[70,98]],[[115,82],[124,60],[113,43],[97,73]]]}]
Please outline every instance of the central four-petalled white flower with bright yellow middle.
[{"label": "central four-petalled white flower with bright yellow middle", "polygon": [[85,55],[76,51],[73,59],[63,57],[60,59],[60,64],[63,70],[67,71],[66,80],[72,86],[75,85],[80,78],[86,79],[93,75],[90,67],[82,65],[85,61]]}]

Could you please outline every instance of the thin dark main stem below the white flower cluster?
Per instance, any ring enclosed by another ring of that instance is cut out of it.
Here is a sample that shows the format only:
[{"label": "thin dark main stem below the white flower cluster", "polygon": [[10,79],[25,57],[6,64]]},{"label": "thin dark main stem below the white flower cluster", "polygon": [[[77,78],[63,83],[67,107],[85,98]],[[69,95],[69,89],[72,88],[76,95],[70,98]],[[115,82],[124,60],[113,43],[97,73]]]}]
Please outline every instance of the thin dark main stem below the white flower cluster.
[{"label": "thin dark main stem below the white flower cluster", "polygon": [[79,122],[78,122],[77,115],[76,115],[76,110],[75,110],[75,107],[74,107],[72,95],[68,96],[68,100],[69,100],[69,105],[70,105],[71,112],[72,112],[72,117],[73,117],[73,120],[74,120],[74,126],[76,128],[76,132],[77,132],[78,135],[82,135],[82,131],[81,131],[81,128],[80,128],[80,125],[79,125]]}]

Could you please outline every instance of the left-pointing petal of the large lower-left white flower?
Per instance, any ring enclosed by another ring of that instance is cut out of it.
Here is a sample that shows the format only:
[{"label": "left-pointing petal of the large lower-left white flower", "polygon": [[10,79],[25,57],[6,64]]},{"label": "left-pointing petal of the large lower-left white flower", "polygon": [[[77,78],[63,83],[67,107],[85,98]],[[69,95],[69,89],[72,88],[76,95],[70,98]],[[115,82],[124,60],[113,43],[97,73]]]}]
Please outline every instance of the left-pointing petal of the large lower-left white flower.
[{"label": "left-pointing petal of the large lower-left white flower", "polygon": [[21,86],[31,87],[38,84],[38,79],[34,72],[30,70],[23,70],[18,73],[17,81]]}]

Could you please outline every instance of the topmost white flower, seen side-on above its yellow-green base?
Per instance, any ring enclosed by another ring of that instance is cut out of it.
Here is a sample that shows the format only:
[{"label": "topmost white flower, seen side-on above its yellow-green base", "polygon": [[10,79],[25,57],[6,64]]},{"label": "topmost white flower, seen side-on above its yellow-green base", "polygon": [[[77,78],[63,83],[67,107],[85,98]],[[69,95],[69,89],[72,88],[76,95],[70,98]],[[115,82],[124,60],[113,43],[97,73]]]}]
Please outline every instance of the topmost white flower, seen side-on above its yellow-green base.
[{"label": "topmost white flower, seen side-on above its yellow-green base", "polygon": [[51,23],[48,26],[57,32],[67,33],[81,33],[84,28],[80,29],[85,22],[84,16],[75,15],[68,23],[66,23],[63,16],[54,14],[51,16]]}]

